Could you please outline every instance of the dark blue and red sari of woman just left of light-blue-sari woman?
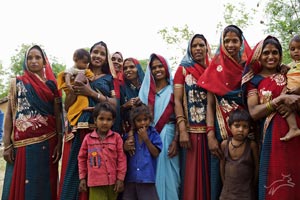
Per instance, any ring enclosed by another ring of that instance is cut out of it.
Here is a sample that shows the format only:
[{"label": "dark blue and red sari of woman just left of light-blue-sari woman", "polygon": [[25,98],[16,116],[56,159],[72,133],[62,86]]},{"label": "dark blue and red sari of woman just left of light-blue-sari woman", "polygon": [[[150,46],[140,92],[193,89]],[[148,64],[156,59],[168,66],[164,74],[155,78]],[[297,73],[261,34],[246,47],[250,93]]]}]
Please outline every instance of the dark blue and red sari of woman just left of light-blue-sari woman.
[{"label": "dark blue and red sari of woman just left of light-blue-sari woman", "polygon": [[[127,58],[124,60],[123,63],[125,63],[126,60],[131,60],[134,64],[135,67],[137,68],[137,76],[138,76],[138,81],[141,84],[144,79],[144,71],[139,63],[139,61],[135,58]],[[124,72],[122,73],[124,74]],[[140,87],[135,87],[129,80],[125,78],[123,75],[124,79],[124,84],[121,85],[120,87],[120,105],[122,106],[125,104],[127,101],[129,101],[132,98],[138,97]],[[123,133],[128,133],[130,130],[130,109],[129,110],[123,110],[121,111],[121,118],[122,118],[122,127],[123,127]]]}]

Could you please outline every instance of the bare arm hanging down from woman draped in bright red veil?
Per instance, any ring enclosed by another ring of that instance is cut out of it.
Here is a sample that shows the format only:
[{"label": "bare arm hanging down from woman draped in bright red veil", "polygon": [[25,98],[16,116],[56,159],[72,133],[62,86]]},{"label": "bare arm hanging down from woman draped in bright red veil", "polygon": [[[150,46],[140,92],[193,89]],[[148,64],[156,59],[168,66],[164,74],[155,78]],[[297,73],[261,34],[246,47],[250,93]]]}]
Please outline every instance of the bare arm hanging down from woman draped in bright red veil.
[{"label": "bare arm hanging down from woman draped in bright red veil", "polygon": [[207,127],[213,127],[208,130],[207,141],[208,148],[212,155],[222,159],[223,152],[221,151],[220,144],[215,136],[215,113],[216,113],[216,100],[215,96],[211,92],[207,92],[207,111],[206,111],[206,125]]}]

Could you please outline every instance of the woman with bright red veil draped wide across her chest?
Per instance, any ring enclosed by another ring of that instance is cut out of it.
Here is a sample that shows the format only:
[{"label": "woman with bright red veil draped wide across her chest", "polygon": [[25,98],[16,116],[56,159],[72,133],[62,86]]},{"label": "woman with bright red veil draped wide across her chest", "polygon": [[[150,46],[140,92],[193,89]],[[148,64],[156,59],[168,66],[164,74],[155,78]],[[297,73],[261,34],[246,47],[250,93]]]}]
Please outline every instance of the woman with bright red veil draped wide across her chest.
[{"label": "woman with bright red veil draped wide across her chest", "polygon": [[235,25],[225,27],[220,46],[210,66],[198,80],[198,86],[207,93],[207,140],[211,152],[211,199],[219,199],[222,182],[219,159],[223,153],[222,140],[230,135],[227,124],[229,113],[245,107],[242,99],[241,80],[244,64],[251,49],[243,32]]}]

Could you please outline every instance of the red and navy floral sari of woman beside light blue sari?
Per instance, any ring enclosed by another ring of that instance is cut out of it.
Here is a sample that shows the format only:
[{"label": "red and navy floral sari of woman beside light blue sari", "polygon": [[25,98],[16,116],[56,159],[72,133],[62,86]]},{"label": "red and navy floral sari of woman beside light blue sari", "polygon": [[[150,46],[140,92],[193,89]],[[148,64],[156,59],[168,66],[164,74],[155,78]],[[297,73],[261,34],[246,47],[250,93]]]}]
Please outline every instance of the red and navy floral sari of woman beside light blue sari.
[{"label": "red and navy floral sari of woman beside light blue sari", "polygon": [[[210,199],[209,150],[206,137],[206,90],[197,85],[197,80],[205,71],[205,66],[197,63],[192,56],[191,45],[196,34],[189,41],[186,55],[177,68],[174,88],[184,90],[183,109],[186,127],[192,148],[182,149],[181,153],[181,196],[183,199]],[[208,45],[207,45],[208,46]],[[206,54],[205,64],[209,58]]]}]

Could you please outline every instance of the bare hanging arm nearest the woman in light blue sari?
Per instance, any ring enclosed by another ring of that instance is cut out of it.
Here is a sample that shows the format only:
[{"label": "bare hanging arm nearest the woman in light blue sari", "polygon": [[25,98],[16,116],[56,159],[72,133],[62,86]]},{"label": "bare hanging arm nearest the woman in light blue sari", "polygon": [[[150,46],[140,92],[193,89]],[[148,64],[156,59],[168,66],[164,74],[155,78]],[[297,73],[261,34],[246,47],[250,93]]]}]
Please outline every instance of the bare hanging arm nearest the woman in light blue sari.
[{"label": "bare hanging arm nearest the woman in light blue sari", "polygon": [[183,85],[181,84],[174,84],[174,102],[175,102],[175,115],[177,121],[177,127],[179,132],[179,143],[180,146],[183,148],[190,148],[191,142],[189,134],[186,130],[185,124],[185,115],[183,110]]}]

